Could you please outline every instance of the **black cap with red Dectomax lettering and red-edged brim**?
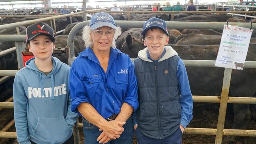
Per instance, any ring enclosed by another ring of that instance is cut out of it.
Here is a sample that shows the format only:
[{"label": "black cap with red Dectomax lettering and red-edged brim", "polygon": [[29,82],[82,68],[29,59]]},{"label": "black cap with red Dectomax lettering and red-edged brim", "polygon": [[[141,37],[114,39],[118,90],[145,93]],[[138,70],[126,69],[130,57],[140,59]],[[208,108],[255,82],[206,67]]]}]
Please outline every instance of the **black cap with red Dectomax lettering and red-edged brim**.
[{"label": "black cap with red Dectomax lettering and red-edged brim", "polygon": [[37,35],[46,35],[52,40],[52,42],[55,42],[53,29],[43,22],[37,22],[28,26],[26,30],[26,43]]}]

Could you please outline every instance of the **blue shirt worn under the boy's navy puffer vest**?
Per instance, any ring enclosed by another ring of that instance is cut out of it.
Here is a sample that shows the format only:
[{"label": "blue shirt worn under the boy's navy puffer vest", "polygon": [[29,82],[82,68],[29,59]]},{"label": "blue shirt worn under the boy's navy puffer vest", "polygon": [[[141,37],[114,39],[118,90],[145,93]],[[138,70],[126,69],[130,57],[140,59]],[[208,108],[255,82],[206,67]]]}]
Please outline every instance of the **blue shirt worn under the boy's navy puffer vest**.
[{"label": "blue shirt worn under the boy's navy puffer vest", "polygon": [[[157,63],[158,60],[161,59],[161,57],[163,57],[163,55],[165,55],[165,52],[166,52],[166,50],[164,48],[161,56],[155,61],[150,57],[148,51],[147,51],[147,57],[148,57],[148,59],[152,60],[153,63]],[[133,63],[133,65],[134,65],[134,63]],[[181,106],[180,125],[182,125],[184,128],[186,128],[193,117],[193,115],[192,115],[193,99],[192,99],[192,94],[191,94],[191,90],[190,90],[190,86],[189,86],[189,80],[187,78],[186,67],[181,58],[178,60],[177,77],[178,77],[178,83],[180,86],[180,106]],[[137,115],[136,115],[136,113],[134,113],[134,115],[133,115],[134,124],[137,124],[136,117],[137,117]]]}]

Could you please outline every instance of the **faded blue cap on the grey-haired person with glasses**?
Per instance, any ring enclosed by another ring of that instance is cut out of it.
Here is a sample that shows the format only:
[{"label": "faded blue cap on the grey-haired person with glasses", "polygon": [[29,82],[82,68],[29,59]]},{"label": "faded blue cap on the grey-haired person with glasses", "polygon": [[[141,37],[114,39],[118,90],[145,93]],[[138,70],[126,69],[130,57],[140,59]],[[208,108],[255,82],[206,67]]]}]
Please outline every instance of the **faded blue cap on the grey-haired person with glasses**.
[{"label": "faded blue cap on the grey-haired person with glasses", "polygon": [[100,28],[102,26],[108,26],[113,29],[117,29],[114,18],[108,13],[95,13],[90,20],[90,27],[92,30]]}]

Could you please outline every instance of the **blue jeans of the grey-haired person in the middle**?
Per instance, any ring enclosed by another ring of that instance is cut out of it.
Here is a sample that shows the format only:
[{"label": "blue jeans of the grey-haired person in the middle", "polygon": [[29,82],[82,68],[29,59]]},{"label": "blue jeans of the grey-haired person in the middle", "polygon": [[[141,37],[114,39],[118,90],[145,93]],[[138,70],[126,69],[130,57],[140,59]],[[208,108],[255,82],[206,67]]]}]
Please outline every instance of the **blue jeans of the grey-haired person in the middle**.
[{"label": "blue jeans of the grey-haired person in the middle", "polygon": [[[132,139],[134,135],[134,126],[132,117],[126,120],[124,124],[124,132],[120,135],[119,138],[115,140],[110,140],[106,144],[132,144]],[[102,131],[99,131],[99,128],[85,118],[83,118],[83,135],[84,135],[84,144],[99,144],[97,138],[100,136]]]}]

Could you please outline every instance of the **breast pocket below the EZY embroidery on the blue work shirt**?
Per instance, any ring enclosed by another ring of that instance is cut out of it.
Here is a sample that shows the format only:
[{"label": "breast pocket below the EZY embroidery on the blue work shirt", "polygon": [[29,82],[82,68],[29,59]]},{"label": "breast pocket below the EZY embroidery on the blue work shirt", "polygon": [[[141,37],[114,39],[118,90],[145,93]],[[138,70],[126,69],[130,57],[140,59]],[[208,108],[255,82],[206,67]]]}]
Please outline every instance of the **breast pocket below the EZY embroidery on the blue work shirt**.
[{"label": "breast pocket below the EZY embroidery on the blue work shirt", "polygon": [[115,91],[117,94],[126,94],[126,89],[128,86],[128,75],[127,76],[115,76]]}]

